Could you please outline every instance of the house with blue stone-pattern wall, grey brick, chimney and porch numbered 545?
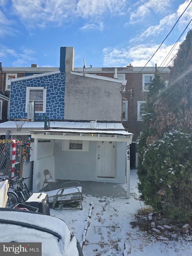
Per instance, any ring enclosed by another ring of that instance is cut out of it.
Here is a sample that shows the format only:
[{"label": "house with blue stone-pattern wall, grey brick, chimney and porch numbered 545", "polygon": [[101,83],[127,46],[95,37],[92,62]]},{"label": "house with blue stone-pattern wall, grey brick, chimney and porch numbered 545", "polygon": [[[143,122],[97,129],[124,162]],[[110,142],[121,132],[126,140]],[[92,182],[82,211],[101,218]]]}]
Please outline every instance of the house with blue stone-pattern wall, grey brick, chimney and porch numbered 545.
[{"label": "house with blue stone-pattern wall, grey brick, chimney and porch numbered 545", "polygon": [[[73,63],[73,47],[61,47],[58,69],[12,77],[9,121],[0,124],[0,134],[28,134],[34,140],[34,192],[43,185],[43,170],[49,169],[55,179],[126,180],[129,197],[133,134],[121,122],[120,93],[126,80],[88,74],[85,68],[76,71]],[[19,131],[14,119],[30,122]],[[49,129],[44,127],[46,119]]]}]

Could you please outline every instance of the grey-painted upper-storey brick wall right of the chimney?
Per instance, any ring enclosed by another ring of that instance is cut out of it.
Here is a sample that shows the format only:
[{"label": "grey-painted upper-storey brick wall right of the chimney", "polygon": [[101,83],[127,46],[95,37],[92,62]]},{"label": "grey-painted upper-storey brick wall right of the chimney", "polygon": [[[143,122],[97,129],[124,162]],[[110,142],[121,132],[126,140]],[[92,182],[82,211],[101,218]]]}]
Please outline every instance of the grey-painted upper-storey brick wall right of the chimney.
[{"label": "grey-painted upper-storey brick wall right of the chimney", "polygon": [[64,118],[121,122],[119,87],[121,83],[67,74]]}]

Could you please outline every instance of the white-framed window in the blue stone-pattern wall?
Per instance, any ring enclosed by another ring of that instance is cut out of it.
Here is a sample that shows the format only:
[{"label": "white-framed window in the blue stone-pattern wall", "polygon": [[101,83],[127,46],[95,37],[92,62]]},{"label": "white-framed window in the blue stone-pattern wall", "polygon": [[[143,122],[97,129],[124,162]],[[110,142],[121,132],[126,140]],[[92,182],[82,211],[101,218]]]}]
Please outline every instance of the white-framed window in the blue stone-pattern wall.
[{"label": "white-framed window in the blue stone-pattern wall", "polygon": [[46,87],[27,87],[26,88],[26,112],[28,104],[35,101],[35,112],[46,112]]}]

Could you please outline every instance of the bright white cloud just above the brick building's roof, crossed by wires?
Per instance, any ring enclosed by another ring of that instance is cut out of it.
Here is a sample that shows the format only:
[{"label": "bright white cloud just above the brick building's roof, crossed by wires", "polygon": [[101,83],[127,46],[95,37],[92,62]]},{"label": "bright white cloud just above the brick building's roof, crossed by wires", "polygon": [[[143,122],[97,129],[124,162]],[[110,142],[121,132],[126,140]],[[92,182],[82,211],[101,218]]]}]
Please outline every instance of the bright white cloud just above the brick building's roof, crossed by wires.
[{"label": "bright white cloud just above the brick building's roof, crossed by wires", "polygon": [[[159,45],[157,44],[140,44],[134,47],[128,47],[126,49],[117,49],[112,47],[106,47],[103,50],[104,53],[104,66],[107,67],[122,67],[127,66],[129,63],[132,63],[134,67],[136,66],[145,66],[155,51],[158,49]],[[155,56],[147,64],[147,66],[166,66],[168,62],[173,58],[177,53],[177,50],[173,52],[166,58],[167,54],[172,49],[173,45],[163,44],[161,48],[157,51]],[[179,44],[177,45],[177,49]],[[164,59],[166,58],[166,62]],[[171,62],[170,62],[171,63]],[[170,65],[170,64],[169,64]]]}]

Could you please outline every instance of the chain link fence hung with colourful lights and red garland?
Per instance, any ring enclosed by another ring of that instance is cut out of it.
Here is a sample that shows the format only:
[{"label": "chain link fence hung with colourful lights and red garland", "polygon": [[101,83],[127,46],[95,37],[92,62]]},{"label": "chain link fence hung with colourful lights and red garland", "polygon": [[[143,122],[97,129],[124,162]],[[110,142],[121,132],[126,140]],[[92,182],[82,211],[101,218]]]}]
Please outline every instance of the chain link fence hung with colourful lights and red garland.
[{"label": "chain link fence hung with colourful lights and red garland", "polygon": [[[10,140],[0,140],[0,177],[11,178],[13,148]],[[25,180],[31,190],[33,184],[33,161],[30,162],[30,143],[16,143],[14,176],[30,177]]]}]

